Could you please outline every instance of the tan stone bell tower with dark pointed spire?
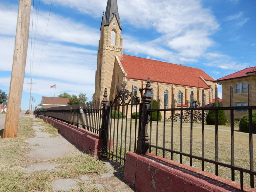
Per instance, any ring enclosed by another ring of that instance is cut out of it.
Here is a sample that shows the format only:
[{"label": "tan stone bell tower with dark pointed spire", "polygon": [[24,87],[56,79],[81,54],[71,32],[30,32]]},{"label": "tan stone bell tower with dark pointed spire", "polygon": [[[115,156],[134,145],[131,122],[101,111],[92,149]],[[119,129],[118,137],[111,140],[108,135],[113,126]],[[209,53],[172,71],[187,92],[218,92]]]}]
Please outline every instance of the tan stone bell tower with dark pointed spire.
[{"label": "tan stone bell tower with dark pointed spire", "polygon": [[115,91],[114,66],[117,57],[123,57],[122,25],[118,13],[117,0],[108,0],[105,14],[100,26],[100,40],[95,73],[95,91],[93,101],[103,99],[105,88],[108,89],[108,100],[113,100]]}]

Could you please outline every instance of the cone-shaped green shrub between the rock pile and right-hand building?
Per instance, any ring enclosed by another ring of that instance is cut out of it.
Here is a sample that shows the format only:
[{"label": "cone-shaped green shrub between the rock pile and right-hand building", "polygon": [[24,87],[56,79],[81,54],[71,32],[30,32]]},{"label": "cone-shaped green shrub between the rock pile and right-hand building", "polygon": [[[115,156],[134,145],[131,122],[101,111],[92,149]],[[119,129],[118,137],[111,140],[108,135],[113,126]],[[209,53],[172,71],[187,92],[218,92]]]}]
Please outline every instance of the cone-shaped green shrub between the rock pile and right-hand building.
[{"label": "cone-shaped green shrub between the rock pile and right-hand building", "polygon": [[[215,107],[215,103],[212,104]],[[218,107],[221,107],[220,101],[218,101]],[[215,110],[209,110],[206,116],[206,123],[208,125],[215,125]],[[228,123],[224,110],[218,110],[218,125],[225,125]]]}]

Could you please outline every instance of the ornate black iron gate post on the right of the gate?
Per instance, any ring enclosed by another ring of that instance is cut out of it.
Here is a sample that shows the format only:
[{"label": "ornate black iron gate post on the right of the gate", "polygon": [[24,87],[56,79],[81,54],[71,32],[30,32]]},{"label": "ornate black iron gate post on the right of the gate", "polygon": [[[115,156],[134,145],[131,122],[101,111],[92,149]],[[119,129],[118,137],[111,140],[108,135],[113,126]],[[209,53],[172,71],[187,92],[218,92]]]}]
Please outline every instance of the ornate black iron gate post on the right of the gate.
[{"label": "ornate black iron gate post on the right of the gate", "polygon": [[[148,138],[148,123],[150,121],[150,112],[148,112],[149,106],[151,104],[151,90],[150,78],[148,77],[147,84],[145,88],[140,88],[140,92],[145,91],[142,95],[142,115],[140,117],[141,128],[137,141],[137,153],[147,154],[149,148],[149,138]],[[141,109],[141,108],[140,108]]]}]

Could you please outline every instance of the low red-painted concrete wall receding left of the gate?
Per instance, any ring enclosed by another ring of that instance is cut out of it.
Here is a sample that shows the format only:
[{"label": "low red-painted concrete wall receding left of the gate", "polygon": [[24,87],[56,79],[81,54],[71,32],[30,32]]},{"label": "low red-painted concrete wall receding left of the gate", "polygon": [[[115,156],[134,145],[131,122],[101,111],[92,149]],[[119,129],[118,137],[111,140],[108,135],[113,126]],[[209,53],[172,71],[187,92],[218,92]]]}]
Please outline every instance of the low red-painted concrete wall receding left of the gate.
[{"label": "low red-painted concrete wall receding left of the gate", "polygon": [[[37,114],[34,114],[35,116]],[[100,149],[102,149],[103,142],[98,135],[87,132],[86,130],[77,129],[65,123],[61,123],[50,117],[38,115],[40,119],[44,119],[45,122],[59,129],[59,133],[76,144],[85,153],[94,154],[100,156]]]}]

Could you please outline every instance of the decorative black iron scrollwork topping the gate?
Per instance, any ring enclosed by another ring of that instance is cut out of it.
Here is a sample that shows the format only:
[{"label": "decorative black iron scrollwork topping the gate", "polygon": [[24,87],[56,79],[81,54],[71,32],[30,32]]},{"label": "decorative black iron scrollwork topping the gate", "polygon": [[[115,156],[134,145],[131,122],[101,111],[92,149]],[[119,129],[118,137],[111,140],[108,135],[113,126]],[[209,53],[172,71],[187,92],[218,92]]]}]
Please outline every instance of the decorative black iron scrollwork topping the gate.
[{"label": "decorative black iron scrollwork topping the gate", "polygon": [[126,85],[127,83],[124,83],[124,82],[121,84],[123,89],[121,89],[120,91],[117,91],[116,97],[113,101],[109,101],[110,106],[128,105],[131,103],[131,101],[132,101],[132,104],[140,103],[139,97],[134,97],[132,95],[132,92],[129,92],[129,90],[125,89]]}]

